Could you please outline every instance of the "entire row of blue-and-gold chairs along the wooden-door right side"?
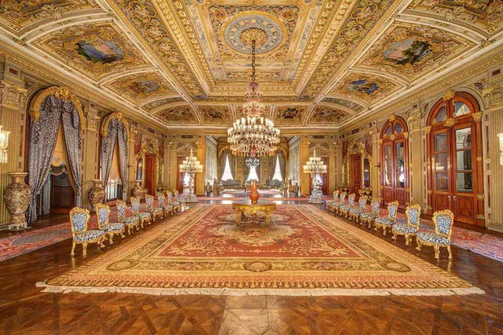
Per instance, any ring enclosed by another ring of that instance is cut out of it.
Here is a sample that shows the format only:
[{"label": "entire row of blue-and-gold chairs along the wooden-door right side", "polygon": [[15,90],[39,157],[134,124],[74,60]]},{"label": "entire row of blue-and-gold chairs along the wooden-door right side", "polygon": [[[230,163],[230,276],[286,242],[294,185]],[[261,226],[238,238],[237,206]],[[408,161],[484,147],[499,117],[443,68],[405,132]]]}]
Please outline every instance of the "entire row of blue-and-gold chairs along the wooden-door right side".
[{"label": "entire row of blue-and-gold chairs along the wooden-door right side", "polygon": [[[339,196],[340,195],[340,196]],[[388,203],[388,216],[380,216],[379,211],[381,208],[381,198],[374,198],[370,202],[370,212],[366,211],[367,208],[367,195],[362,195],[355,204],[356,194],[352,193],[348,196],[348,203],[346,203],[346,192],[336,190],[333,192],[333,200],[326,201],[326,208],[334,213],[345,215],[346,218],[360,220],[360,225],[368,225],[370,229],[374,224],[374,231],[378,229],[383,230],[383,235],[386,235],[386,229],[391,228],[393,233],[393,240],[396,240],[397,235],[405,237],[405,245],[409,245],[412,237],[415,236],[417,243],[417,251],[421,251],[421,247],[433,246],[435,249],[435,258],[440,257],[440,248],[445,247],[449,252],[449,259],[452,259],[451,253],[451,234],[454,225],[454,214],[452,211],[446,209],[436,211],[433,214],[433,222],[435,232],[420,232],[420,217],[421,206],[418,204],[409,205],[405,209],[407,217],[406,223],[396,222],[398,212],[398,201],[391,201]]]}]

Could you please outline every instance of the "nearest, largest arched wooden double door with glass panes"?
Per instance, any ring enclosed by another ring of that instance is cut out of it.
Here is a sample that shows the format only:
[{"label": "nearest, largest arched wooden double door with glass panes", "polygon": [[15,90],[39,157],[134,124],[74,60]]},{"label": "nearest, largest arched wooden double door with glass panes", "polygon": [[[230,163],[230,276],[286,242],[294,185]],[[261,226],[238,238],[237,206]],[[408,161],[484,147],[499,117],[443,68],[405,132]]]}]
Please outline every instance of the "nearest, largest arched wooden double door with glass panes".
[{"label": "nearest, largest arched wooden double door with glass panes", "polygon": [[448,91],[427,120],[428,213],[450,209],[454,219],[484,226],[482,113],[465,92]]}]

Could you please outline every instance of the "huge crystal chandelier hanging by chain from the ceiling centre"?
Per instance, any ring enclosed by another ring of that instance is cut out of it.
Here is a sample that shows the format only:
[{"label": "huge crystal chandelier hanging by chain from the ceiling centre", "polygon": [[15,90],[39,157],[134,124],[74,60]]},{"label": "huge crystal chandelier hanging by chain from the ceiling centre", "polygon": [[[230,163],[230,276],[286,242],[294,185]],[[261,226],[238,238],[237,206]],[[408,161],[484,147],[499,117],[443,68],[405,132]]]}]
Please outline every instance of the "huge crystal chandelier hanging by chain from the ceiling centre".
[{"label": "huge crystal chandelier hanging by chain from the ceiling centre", "polygon": [[[251,28],[253,36],[255,28]],[[272,155],[280,143],[280,130],[274,123],[264,118],[266,106],[262,103],[259,84],[255,81],[255,47],[256,39],[251,41],[251,82],[248,85],[243,103],[245,118],[236,120],[227,130],[227,140],[233,155],[265,156]]]}]

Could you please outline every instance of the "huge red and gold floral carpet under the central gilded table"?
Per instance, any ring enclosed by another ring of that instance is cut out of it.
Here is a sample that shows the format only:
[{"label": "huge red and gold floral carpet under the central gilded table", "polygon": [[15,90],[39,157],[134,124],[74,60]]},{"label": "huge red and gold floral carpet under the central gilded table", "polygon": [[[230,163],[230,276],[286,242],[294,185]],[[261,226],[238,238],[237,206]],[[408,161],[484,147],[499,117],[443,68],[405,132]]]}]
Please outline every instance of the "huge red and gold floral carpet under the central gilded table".
[{"label": "huge red and gold floral carpet under the central gilded table", "polygon": [[271,226],[198,204],[55,279],[46,292],[450,295],[469,282],[311,205],[278,205]]}]

